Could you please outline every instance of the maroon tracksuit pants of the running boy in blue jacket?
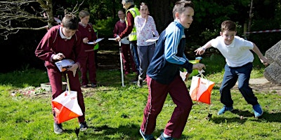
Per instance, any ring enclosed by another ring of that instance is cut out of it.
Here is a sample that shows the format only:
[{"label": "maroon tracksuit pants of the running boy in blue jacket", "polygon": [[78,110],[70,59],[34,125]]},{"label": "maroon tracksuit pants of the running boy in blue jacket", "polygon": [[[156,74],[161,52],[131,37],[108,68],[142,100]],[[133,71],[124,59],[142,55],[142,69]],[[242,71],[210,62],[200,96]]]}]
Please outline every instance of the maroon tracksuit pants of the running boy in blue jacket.
[{"label": "maroon tracksuit pants of the running boy in blue jacket", "polygon": [[147,76],[147,81],[149,94],[148,102],[143,111],[141,130],[145,134],[152,134],[155,130],[156,118],[161,112],[167,94],[169,93],[171,99],[176,104],[176,108],[166,124],[164,133],[179,139],[192,108],[192,100],[185,83],[179,75],[169,85],[158,83],[149,76]]}]

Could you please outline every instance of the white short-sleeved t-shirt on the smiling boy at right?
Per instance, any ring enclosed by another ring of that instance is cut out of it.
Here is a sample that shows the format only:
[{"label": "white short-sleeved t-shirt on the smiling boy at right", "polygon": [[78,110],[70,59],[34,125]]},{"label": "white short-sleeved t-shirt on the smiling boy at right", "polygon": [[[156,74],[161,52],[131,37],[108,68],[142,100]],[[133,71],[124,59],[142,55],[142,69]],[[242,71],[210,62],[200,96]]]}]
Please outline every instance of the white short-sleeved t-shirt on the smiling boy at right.
[{"label": "white short-sleeved t-shirt on the smiling boy at right", "polygon": [[254,55],[250,51],[254,48],[254,44],[251,41],[235,36],[233,42],[226,45],[223,40],[223,36],[218,36],[211,40],[211,46],[221,52],[223,57],[226,58],[228,66],[243,66],[254,61]]}]

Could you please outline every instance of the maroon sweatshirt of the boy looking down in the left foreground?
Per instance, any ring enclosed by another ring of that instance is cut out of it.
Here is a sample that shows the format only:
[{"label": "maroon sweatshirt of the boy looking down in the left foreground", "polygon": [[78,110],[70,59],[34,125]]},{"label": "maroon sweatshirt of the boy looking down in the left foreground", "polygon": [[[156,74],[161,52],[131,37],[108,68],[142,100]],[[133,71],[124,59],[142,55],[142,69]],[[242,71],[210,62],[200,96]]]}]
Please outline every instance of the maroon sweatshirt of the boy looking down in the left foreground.
[{"label": "maroon sweatshirt of the boy looking down in the left foreground", "polygon": [[85,64],[86,53],[84,52],[79,31],[76,31],[71,39],[65,39],[60,37],[60,25],[51,27],[41,39],[35,50],[35,55],[45,61],[45,66],[48,69],[58,70],[51,57],[59,52],[65,55],[65,59],[78,62],[80,67]]}]

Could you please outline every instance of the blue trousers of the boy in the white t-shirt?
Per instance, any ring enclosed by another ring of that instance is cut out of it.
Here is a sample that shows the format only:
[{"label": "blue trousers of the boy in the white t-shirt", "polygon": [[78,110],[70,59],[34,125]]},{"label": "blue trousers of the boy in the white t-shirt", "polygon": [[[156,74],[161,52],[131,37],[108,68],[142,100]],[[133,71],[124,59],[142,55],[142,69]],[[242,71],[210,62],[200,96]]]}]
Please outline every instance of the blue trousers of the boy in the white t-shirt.
[{"label": "blue trousers of the boy in the white t-shirt", "polygon": [[221,103],[223,103],[226,107],[233,106],[230,89],[235,85],[237,80],[238,89],[247,103],[253,106],[259,104],[253,90],[249,87],[249,79],[252,68],[253,64],[251,62],[238,67],[230,67],[228,64],[224,66],[225,72],[223,75],[223,83],[220,88],[220,94]]}]

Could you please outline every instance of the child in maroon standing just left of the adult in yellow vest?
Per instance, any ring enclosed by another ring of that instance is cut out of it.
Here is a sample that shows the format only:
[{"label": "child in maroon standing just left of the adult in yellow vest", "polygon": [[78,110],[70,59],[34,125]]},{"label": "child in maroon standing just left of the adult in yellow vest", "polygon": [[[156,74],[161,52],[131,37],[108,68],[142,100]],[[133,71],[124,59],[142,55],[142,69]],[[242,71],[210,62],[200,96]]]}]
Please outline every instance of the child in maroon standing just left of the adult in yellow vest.
[{"label": "child in maroon standing just left of the adult in yellow vest", "polygon": [[[126,22],[125,22],[125,13],[123,10],[118,11],[119,21],[115,23],[115,28],[113,29],[113,36],[116,38],[119,36],[124,29],[126,29]],[[122,59],[124,64],[124,71],[125,75],[130,73],[130,66],[131,63],[132,71],[136,71],[136,64],[133,62],[133,56],[131,55],[129,40],[127,37],[121,40],[121,52],[122,52]]]}]

